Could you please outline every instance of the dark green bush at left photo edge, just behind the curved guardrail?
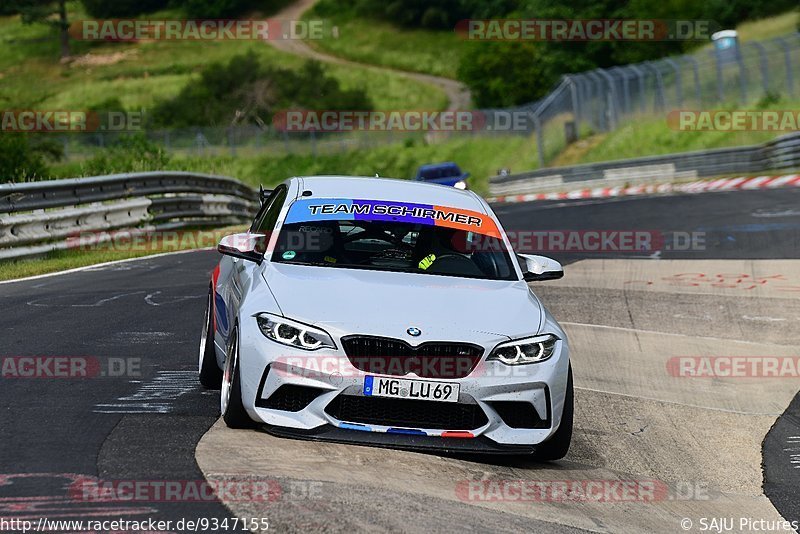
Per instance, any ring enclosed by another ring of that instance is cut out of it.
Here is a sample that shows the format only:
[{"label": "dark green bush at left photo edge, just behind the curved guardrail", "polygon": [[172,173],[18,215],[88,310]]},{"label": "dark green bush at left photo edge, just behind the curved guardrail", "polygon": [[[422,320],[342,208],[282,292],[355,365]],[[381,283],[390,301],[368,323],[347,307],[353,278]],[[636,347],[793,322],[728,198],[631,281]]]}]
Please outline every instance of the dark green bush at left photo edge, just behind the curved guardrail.
[{"label": "dark green bush at left photo edge, just behind the curved guardrail", "polygon": [[0,181],[27,182],[41,180],[50,174],[48,160],[58,160],[63,148],[44,137],[24,134],[0,134]]}]

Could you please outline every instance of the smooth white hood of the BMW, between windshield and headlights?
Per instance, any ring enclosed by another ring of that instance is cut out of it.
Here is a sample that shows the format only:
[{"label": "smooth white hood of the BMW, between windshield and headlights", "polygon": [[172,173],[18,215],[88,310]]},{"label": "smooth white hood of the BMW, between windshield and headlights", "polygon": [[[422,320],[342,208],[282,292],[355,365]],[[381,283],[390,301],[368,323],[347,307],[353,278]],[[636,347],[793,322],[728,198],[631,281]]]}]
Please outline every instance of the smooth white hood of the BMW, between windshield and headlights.
[{"label": "smooth white hood of the BMW, between windshield and headlights", "polygon": [[524,281],[272,263],[263,271],[284,316],[334,335],[403,338],[414,343],[475,341],[537,333],[539,300]]}]

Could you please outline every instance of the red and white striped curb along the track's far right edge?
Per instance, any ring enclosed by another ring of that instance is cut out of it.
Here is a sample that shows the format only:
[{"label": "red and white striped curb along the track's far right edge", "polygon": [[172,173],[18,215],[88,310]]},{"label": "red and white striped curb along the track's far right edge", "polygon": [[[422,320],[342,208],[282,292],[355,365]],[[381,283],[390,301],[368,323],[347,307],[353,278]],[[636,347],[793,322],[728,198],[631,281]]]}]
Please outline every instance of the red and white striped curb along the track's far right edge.
[{"label": "red and white striped curb along the track's far right edge", "polygon": [[536,200],[578,200],[586,198],[613,198],[634,195],[656,195],[665,193],[708,193],[711,191],[735,191],[742,189],[775,189],[778,187],[800,187],[800,174],[784,176],[741,176],[720,180],[703,180],[688,184],[649,184],[630,187],[597,187],[576,189],[562,193],[529,193],[527,195],[505,195],[490,197],[488,202],[533,202]]}]

